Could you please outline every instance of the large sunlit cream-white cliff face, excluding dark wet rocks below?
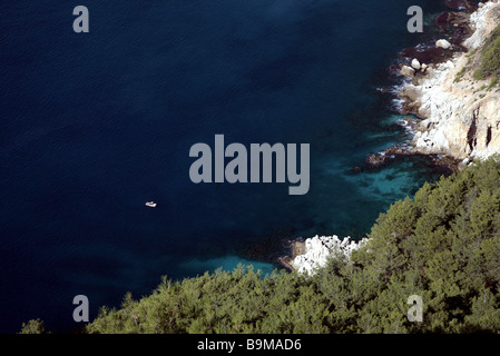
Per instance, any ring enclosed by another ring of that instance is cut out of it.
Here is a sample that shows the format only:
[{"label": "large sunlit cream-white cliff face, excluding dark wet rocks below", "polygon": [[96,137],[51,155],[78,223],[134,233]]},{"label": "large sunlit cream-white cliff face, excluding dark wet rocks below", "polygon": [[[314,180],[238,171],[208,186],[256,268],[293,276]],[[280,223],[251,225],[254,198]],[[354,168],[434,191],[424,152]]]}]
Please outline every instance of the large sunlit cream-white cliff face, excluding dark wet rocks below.
[{"label": "large sunlit cream-white cliff face, excluding dark wet rocks below", "polygon": [[464,160],[500,152],[500,90],[487,90],[489,80],[472,78],[481,46],[499,23],[499,0],[480,4],[469,19],[473,33],[462,43],[469,51],[431,65],[400,92],[423,118],[413,138],[415,152]]}]

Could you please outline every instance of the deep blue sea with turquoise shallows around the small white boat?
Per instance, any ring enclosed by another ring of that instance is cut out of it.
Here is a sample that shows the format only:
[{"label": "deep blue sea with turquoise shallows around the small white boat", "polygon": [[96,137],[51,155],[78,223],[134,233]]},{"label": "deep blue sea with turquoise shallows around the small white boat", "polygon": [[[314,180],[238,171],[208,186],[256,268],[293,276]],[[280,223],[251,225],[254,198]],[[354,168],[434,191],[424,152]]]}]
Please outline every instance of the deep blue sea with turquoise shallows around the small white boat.
[{"label": "deep blue sea with turquoise shallows around the small white boat", "polygon": [[[442,2],[1,1],[0,332],[68,332],[76,295],[94,318],[161,276],[268,273],[287,239],[364,236],[435,178],[421,158],[352,168],[405,139],[379,89],[421,40],[408,8],[429,20]],[[78,4],[89,33],[72,30]],[[189,148],[217,134],[310,144],[308,194],[193,184]]]}]

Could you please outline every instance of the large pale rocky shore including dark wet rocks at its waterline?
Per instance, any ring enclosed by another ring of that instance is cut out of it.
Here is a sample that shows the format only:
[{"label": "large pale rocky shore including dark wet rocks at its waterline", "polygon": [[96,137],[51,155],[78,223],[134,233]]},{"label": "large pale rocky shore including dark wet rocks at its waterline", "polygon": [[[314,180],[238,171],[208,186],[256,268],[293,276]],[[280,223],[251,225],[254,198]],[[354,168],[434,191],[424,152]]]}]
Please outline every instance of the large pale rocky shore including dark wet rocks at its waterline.
[{"label": "large pale rocky shore including dark wet rocks at its waterline", "polygon": [[[447,4],[464,11],[438,16],[434,23],[441,38],[403,49],[400,65],[390,68],[393,75],[408,78],[398,92],[402,101],[401,113],[418,119],[408,117],[400,125],[413,137],[369,155],[367,169],[404,156],[425,156],[433,168],[453,172],[473,159],[500,151],[498,90],[481,92],[480,88],[486,83],[473,80],[464,69],[467,63],[478,61],[476,57],[482,41],[500,22],[500,3],[491,0],[476,6],[463,0],[447,1]],[[463,78],[459,86],[457,78],[460,75]]]}]

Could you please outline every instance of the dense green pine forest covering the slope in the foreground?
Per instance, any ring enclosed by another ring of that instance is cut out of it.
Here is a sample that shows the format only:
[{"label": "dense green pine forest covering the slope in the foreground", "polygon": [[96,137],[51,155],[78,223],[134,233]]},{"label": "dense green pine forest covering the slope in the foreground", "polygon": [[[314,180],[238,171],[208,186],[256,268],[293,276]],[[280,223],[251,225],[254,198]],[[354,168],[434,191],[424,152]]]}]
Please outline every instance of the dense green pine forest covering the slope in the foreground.
[{"label": "dense green pine forest covering the slope in the foreground", "polygon": [[[474,162],[381,214],[350,259],[313,276],[252,266],[166,278],[102,307],[85,333],[499,333],[500,157]],[[423,300],[410,322],[409,296]],[[21,333],[45,333],[31,320]]]}]

